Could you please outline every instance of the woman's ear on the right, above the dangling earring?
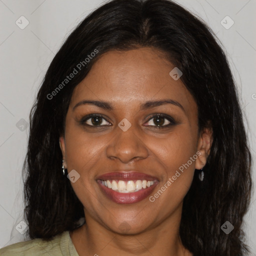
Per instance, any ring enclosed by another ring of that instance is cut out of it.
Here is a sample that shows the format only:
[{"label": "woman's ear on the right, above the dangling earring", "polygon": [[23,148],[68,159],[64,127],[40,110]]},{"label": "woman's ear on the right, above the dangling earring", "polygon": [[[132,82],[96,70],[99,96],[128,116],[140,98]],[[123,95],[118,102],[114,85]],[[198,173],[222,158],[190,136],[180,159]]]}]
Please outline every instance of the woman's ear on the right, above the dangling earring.
[{"label": "woman's ear on the right, above the dangling earring", "polygon": [[199,134],[197,141],[198,157],[195,160],[195,168],[201,169],[205,164],[207,157],[210,153],[210,147],[212,144],[212,128],[204,127]]}]

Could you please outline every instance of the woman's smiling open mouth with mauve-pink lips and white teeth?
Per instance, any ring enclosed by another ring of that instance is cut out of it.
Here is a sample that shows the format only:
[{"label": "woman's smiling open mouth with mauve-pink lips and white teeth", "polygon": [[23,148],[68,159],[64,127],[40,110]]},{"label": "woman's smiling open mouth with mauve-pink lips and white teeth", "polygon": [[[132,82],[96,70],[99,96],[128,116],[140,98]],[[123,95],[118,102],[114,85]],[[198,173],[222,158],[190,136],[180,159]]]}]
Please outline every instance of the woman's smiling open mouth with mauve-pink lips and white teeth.
[{"label": "woman's smiling open mouth with mauve-pink lips and white teeth", "polygon": [[116,203],[141,201],[159,183],[156,177],[141,172],[109,172],[96,181],[104,195]]}]

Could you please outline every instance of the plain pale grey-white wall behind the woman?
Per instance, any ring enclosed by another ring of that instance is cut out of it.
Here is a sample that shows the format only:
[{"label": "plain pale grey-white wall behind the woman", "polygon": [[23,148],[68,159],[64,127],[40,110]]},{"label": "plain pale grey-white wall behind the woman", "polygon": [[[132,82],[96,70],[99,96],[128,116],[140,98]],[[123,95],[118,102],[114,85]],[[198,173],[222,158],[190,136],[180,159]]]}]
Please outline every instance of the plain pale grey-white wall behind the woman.
[{"label": "plain pale grey-white wall behind the woman", "polygon": [[[255,180],[256,0],[176,1],[205,20],[226,49],[247,119]],[[0,0],[0,247],[23,240],[15,226],[23,219],[21,168],[28,126],[21,131],[16,123],[22,118],[28,122],[37,89],[63,39],[101,3],[102,0]],[[15,24],[21,15],[29,21],[24,29]],[[220,23],[226,15],[234,21],[229,29]],[[255,228],[254,193],[244,224],[253,255]]]}]

